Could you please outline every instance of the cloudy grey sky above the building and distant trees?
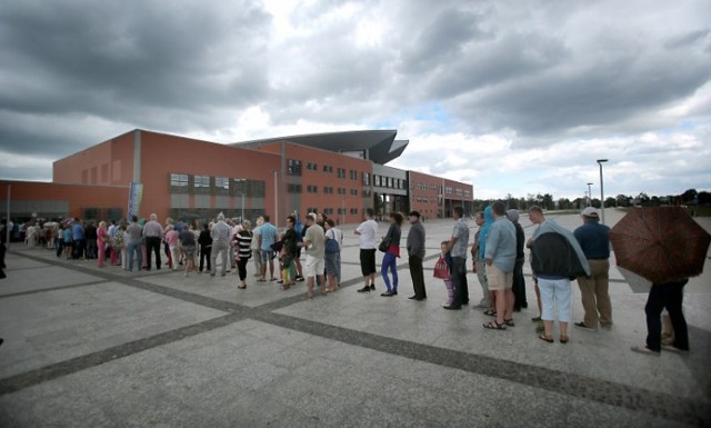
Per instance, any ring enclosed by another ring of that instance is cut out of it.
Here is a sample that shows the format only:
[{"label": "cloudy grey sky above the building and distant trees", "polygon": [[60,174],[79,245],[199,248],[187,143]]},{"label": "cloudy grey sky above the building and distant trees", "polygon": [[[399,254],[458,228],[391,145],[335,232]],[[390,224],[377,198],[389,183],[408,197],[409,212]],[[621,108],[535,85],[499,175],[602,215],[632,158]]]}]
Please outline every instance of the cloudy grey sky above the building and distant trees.
[{"label": "cloudy grey sky above the building and distant trees", "polygon": [[134,128],[358,129],[477,198],[711,190],[708,0],[4,0],[0,178]]}]

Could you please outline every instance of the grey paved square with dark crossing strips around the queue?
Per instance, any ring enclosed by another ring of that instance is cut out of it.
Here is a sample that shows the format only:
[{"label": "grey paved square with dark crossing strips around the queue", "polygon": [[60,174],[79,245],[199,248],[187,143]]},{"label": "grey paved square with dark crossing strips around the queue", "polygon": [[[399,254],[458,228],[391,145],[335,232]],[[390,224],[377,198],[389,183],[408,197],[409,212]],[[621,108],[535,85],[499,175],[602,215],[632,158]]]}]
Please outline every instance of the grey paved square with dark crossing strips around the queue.
[{"label": "grey paved square with dark crossing strips around the queue", "polygon": [[[605,215],[609,225],[621,218]],[[580,225],[579,216],[555,220]],[[530,236],[528,217],[521,223]],[[630,351],[644,341],[647,293],[617,268],[612,330],[573,328],[569,344],[549,345],[530,322],[538,310],[528,265],[529,308],[515,327],[485,330],[480,310],[443,310],[447,291],[432,269],[452,221],[424,226],[421,302],[407,300],[407,259],[399,296],[380,297],[381,279],[378,292],[356,292],[358,239],[348,225],[344,287],[311,300],[303,283],[281,291],[253,281],[251,263],[249,287],[238,290],[233,275],[130,273],[13,245],[0,281],[0,427],[710,424],[709,262],[685,290],[688,356]],[[478,301],[475,275],[468,279]],[[577,285],[572,316],[582,318]]]}]

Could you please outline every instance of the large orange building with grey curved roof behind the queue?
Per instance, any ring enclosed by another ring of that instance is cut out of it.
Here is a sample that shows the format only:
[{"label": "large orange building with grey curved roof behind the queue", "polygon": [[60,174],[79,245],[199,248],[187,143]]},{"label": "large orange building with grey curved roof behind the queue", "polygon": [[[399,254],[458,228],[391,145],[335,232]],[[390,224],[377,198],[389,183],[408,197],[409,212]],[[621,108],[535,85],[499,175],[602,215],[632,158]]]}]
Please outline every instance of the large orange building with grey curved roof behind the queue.
[{"label": "large orange building with grey curved roof behind the queue", "polygon": [[[51,183],[0,181],[10,216],[126,218],[129,187],[142,186],[139,217],[254,219],[268,213],[283,225],[289,213],[324,212],[359,222],[367,208],[380,213],[420,210],[449,217],[470,211],[471,185],[385,167],[408,141],[397,131],[330,132],[220,145],[133,130],[60,159]],[[408,185],[409,182],[409,185]],[[4,217],[4,213],[1,216]]]}]

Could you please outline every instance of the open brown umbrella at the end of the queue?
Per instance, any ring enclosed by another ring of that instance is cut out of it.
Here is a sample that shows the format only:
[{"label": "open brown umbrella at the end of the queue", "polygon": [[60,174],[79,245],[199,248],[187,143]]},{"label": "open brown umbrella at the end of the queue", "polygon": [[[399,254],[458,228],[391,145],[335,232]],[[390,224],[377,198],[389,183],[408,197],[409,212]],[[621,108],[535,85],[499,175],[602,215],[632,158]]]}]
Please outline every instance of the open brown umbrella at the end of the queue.
[{"label": "open brown umbrella at the end of the queue", "polygon": [[680,207],[633,208],[610,230],[618,266],[652,283],[703,271],[711,235]]}]

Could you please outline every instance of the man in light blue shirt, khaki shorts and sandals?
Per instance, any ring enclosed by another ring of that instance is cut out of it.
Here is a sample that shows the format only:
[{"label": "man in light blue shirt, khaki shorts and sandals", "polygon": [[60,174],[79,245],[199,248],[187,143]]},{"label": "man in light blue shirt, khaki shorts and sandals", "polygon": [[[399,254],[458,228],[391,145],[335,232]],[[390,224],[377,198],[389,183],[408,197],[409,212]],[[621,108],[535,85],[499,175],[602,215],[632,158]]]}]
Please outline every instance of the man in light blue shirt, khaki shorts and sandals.
[{"label": "man in light blue shirt, khaki shorts and sandals", "polygon": [[497,318],[484,328],[505,330],[513,327],[513,267],[515,266],[515,227],[505,217],[502,202],[491,206],[493,225],[487,233],[487,279],[489,289],[495,292]]}]

